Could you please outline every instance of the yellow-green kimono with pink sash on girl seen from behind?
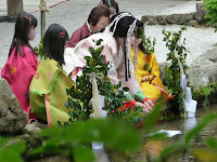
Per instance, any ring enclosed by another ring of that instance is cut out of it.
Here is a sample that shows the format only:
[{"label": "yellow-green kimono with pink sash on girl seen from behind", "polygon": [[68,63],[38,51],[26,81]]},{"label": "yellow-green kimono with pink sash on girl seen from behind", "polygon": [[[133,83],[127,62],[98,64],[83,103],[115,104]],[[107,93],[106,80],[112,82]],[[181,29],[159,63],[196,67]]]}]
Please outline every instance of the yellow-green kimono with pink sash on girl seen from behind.
[{"label": "yellow-green kimono with pink sash on girl seen from behind", "polygon": [[58,62],[42,58],[37,72],[31,80],[29,98],[31,111],[48,121],[48,126],[68,121],[66,89],[72,87],[72,81],[65,75]]}]

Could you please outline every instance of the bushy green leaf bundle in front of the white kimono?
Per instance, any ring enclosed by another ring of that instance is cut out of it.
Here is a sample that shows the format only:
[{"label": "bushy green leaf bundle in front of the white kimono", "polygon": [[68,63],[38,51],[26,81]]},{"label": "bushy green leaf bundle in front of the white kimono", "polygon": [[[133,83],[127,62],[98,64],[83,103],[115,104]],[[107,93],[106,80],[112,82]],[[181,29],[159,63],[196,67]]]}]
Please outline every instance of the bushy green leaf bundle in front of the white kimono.
[{"label": "bushy green leaf bundle in front of the white kimono", "polygon": [[82,68],[82,75],[76,78],[74,85],[66,90],[68,99],[65,104],[66,108],[71,108],[69,111],[71,122],[76,120],[87,120],[89,114],[92,113],[92,106],[89,104],[92,98],[92,84],[90,81],[90,73],[95,76],[99,94],[105,97],[104,110],[107,111],[107,116],[112,118],[122,118],[130,122],[139,122],[143,120],[142,108],[125,108],[125,92],[129,89],[124,86],[122,82],[114,85],[107,77],[110,70],[108,62],[105,63],[104,55],[102,55],[103,45],[101,45],[102,39],[93,40],[95,42],[95,49],[90,48],[89,52],[92,57],[85,56],[87,65]]}]

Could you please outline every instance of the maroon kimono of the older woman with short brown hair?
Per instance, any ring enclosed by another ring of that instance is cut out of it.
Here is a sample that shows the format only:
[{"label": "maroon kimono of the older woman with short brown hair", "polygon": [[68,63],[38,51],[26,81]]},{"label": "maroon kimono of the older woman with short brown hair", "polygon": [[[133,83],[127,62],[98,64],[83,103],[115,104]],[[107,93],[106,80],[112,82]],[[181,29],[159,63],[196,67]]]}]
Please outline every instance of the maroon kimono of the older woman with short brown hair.
[{"label": "maroon kimono of the older woman with short brown hair", "polygon": [[66,43],[66,48],[75,48],[75,45],[91,35],[91,30],[89,28],[88,22],[84,24],[80,28],[78,28],[71,37],[71,40]]}]

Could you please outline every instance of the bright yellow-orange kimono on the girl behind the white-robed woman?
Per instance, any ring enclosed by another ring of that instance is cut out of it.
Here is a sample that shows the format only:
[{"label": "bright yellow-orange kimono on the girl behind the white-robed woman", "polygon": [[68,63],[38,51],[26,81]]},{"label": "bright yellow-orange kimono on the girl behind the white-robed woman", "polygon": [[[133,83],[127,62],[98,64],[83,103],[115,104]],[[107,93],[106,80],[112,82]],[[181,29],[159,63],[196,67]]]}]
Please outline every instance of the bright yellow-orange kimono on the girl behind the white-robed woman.
[{"label": "bright yellow-orange kimono on the girl behind the white-robed woman", "polygon": [[[133,56],[135,51],[132,50],[131,59],[133,59]],[[145,64],[148,66],[146,69],[144,69]],[[150,80],[151,75],[154,76],[153,80]],[[138,48],[138,73],[136,76],[142,91],[152,102],[156,102],[162,94],[168,96],[164,84],[161,81],[158,64],[153,53],[151,55],[146,55]],[[142,82],[141,80],[143,77],[148,77],[148,81]]]}]

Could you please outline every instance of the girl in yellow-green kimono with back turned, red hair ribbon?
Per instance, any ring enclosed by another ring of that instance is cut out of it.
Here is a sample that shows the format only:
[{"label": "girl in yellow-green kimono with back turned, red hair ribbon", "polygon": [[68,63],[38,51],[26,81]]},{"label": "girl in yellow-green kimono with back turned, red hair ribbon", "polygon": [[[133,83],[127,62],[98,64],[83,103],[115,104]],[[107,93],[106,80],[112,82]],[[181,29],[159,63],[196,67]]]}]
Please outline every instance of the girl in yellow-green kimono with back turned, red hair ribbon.
[{"label": "girl in yellow-green kimono with back turned, red hair ribbon", "polygon": [[48,122],[48,126],[62,124],[69,119],[66,89],[72,87],[71,79],[65,75],[63,53],[68,33],[59,24],[52,24],[43,38],[43,57],[29,87],[31,111],[38,121]]}]

